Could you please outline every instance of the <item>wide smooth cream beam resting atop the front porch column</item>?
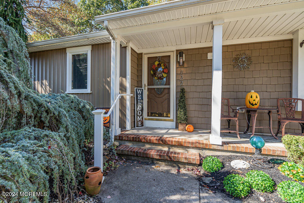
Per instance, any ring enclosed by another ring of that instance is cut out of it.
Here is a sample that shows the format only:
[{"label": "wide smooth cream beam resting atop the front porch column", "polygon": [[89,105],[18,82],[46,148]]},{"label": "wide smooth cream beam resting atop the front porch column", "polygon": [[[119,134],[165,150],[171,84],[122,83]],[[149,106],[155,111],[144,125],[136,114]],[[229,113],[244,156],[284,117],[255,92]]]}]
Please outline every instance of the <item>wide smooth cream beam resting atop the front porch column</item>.
[{"label": "wide smooth cream beam resting atop the front porch column", "polygon": [[227,11],[222,13],[212,13],[203,16],[194,16],[189,18],[175,19],[170,21],[163,21],[157,23],[149,23],[145,25],[138,25],[132,27],[113,29],[113,33],[120,36],[128,36],[133,34],[140,34],[145,32],[156,32],[164,29],[174,29],[180,27],[190,27],[195,25],[211,24],[213,20],[225,19],[225,22],[252,19],[264,16],[274,16],[286,13],[303,12],[304,0],[295,2],[286,2],[275,5],[267,5],[262,7],[254,7],[248,9],[241,9],[236,11]]}]

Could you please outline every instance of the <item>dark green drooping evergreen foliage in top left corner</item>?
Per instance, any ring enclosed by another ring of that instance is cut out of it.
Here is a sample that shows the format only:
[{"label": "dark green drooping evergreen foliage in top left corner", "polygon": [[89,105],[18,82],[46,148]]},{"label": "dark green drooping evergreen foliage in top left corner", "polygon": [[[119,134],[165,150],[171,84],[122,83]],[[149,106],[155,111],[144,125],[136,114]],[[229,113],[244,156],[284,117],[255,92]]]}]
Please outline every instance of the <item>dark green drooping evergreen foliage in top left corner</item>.
[{"label": "dark green drooping evergreen foliage in top left corner", "polygon": [[26,5],[26,3],[26,0],[2,0],[0,4],[0,17],[6,25],[16,30],[24,42],[27,42],[27,34],[22,25],[22,21],[28,21],[22,4]]}]

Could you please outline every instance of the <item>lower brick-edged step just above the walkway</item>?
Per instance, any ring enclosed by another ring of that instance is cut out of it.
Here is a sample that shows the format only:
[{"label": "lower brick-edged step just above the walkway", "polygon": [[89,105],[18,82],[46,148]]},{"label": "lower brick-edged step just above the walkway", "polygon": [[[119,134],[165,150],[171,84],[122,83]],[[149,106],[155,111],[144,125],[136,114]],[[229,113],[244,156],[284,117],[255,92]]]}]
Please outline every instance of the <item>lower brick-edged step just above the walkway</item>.
[{"label": "lower brick-edged step just above the walkway", "polygon": [[130,145],[120,145],[116,149],[118,154],[147,157],[151,159],[162,159],[168,161],[177,161],[184,163],[199,164],[198,152],[173,152],[159,149],[147,149],[140,147],[133,147]]}]

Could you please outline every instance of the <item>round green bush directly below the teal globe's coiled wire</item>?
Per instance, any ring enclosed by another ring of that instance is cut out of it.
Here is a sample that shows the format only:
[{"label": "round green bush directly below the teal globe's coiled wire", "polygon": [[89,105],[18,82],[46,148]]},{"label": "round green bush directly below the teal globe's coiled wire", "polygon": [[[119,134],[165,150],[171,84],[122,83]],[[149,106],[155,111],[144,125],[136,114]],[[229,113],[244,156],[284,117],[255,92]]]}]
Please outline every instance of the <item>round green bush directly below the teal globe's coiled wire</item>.
[{"label": "round green bush directly below the teal globe's coiled wire", "polygon": [[272,192],[274,189],[275,182],[263,171],[250,170],[246,177],[250,187],[256,191]]}]

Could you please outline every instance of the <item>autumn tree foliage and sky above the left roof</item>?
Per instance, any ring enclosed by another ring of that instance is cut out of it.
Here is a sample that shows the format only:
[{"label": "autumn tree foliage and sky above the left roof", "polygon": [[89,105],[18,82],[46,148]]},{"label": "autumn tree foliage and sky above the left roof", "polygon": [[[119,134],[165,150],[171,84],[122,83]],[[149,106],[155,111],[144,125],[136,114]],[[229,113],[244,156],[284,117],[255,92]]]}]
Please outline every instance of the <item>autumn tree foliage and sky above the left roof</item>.
[{"label": "autumn tree foliage and sky above the left roof", "polygon": [[[8,1],[8,0],[6,0]],[[29,41],[41,41],[104,30],[95,16],[135,9],[167,0],[31,0],[24,10]]]}]

